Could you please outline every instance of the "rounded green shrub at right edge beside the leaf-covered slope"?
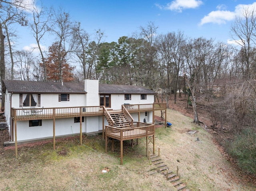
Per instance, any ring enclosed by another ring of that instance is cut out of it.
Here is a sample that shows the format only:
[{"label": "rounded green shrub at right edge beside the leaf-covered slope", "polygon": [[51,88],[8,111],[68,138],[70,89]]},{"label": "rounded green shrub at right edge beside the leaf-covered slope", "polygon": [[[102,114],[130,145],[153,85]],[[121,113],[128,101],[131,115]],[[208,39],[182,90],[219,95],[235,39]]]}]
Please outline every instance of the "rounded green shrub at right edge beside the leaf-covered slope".
[{"label": "rounded green shrub at right edge beside the leaf-covered slope", "polygon": [[250,128],[242,130],[227,145],[231,156],[237,159],[239,167],[256,174],[256,132]]}]

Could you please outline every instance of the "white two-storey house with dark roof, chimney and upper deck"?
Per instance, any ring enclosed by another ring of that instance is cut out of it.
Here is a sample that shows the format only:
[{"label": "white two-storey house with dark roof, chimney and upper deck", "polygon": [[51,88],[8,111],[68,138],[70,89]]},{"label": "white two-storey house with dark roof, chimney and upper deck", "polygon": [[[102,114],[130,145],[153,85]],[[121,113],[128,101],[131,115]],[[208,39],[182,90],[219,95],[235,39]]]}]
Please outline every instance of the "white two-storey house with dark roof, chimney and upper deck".
[{"label": "white two-storey house with dark roof, chimney and upper deck", "polygon": [[[142,86],[3,80],[9,143],[97,134],[105,126],[129,128],[154,124],[154,91]],[[121,116],[122,113],[122,116]],[[140,122],[140,125],[133,124]],[[108,134],[111,136],[110,134]],[[81,142],[82,144],[82,142]]]}]

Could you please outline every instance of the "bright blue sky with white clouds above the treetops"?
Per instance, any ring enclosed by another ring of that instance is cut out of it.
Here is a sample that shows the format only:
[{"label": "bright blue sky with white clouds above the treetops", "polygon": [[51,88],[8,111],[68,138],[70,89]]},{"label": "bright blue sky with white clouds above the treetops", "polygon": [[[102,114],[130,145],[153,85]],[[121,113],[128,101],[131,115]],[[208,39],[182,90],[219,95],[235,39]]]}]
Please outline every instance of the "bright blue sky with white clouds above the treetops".
[{"label": "bright blue sky with white clouds above the treetops", "polygon": [[[88,33],[104,31],[106,42],[130,36],[140,26],[154,22],[157,33],[184,32],[188,37],[228,42],[230,25],[242,7],[256,6],[254,0],[42,0],[44,6],[60,6]],[[31,46],[24,35],[22,46]],[[22,36],[22,34],[21,34]],[[52,41],[53,42],[53,41]]]}]

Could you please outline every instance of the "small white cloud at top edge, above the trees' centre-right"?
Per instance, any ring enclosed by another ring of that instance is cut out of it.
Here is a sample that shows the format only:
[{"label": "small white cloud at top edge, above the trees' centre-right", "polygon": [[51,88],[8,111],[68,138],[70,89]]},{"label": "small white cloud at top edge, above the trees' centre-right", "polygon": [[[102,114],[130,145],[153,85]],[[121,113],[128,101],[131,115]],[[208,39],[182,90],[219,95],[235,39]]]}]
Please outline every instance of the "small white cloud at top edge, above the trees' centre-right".
[{"label": "small white cloud at top edge, above the trees' centre-right", "polygon": [[199,7],[203,2],[201,0],[174,0],[167,4],[167,6],[158,6],[160,9],[175,10],[182,12],[183,9],[194,9]]}]

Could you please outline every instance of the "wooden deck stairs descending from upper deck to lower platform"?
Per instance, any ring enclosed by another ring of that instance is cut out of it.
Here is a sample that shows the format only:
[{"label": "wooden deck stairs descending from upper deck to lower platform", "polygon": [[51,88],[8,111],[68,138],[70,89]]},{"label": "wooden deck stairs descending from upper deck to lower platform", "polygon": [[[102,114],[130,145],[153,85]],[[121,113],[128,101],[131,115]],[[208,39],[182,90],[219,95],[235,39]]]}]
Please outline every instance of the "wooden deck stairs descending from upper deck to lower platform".
[{"label": "wooden deck stairs descending from upper deck to lower platform", "polygon": [[[109,115],[108,115],[109,114]],[[113,111],[109,111],[108,114],[106,114],[106,119],[108,121],[109,124],[112,124],[112,120],[114,121],[113,126],[117,127],[117,128],[129,128],[132,127],[132,122],[130,122],[128,120],[128,118],[126,117],[126,115],[120,111],[120,110],[113,110]]]}]

